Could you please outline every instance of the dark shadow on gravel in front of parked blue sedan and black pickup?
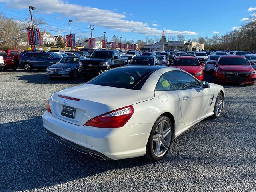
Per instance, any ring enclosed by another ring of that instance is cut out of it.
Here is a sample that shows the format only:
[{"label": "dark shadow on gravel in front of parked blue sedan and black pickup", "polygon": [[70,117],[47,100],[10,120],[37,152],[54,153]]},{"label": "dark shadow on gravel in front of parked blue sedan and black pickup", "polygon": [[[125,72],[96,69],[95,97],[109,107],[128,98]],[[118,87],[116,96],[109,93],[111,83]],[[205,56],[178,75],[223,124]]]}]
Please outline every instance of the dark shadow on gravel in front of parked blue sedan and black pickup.
[{"label": "dark shadow on gravel in front of parked blue sedan and black pickup", "polygon": [[58,84],[58,83],[70,83],[70,84],[78,84],[78,83],[85,83],[80,78],[76,80],[72,80],[70,78],[48,78],[42,72],[32,72],[28,75],[20,75],[16,76],[18,80],[26,81],[27,83],[34,83],[34,84]]}]

